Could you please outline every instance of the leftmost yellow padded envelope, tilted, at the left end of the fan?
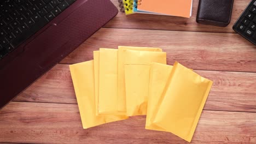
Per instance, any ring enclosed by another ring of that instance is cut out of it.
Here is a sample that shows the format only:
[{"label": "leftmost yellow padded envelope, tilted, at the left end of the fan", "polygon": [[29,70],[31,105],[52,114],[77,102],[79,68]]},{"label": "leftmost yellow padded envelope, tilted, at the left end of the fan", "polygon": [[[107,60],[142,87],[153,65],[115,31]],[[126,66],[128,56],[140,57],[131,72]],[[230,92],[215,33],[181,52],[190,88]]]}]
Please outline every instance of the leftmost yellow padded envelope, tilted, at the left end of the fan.
[{"label": "leftmost yellow padded envelope, tilted, at the left end of the fan", "polygon": [[84,129],[127,118],[95,115],[94,61],[69,65],[69,68]]}]

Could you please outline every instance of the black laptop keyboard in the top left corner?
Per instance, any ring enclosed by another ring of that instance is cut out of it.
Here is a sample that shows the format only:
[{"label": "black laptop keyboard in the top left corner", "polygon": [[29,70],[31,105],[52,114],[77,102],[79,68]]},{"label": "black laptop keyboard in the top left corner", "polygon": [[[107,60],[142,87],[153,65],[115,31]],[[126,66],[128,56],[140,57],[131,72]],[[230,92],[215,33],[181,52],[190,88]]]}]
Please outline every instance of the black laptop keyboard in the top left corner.
[{"label": "black laptop keyboard in the top left corner", "polygon": [[0,60],[76,0],[0,0]]}]

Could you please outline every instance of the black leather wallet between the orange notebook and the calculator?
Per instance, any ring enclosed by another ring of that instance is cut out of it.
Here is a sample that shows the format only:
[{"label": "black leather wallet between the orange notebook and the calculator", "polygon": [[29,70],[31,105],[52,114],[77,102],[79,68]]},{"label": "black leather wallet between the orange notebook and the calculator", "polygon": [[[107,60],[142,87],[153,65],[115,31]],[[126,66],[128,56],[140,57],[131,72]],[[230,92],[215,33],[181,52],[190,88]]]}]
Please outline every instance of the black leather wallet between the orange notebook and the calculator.
[{"label": "black leather wallet between the orange notebook and the calculator", "polygon": [[196,22],[225,27],[229,25],[234,0],[200,0]]}]

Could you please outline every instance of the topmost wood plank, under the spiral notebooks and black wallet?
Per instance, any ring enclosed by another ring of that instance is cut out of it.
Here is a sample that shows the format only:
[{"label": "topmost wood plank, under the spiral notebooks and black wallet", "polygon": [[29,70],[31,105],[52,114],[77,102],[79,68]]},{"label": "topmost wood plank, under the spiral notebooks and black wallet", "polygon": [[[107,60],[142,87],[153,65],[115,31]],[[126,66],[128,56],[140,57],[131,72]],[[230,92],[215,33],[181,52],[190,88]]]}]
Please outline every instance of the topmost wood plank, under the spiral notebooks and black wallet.
[{"label": "topmost wood plank, under the spiral notebooks and black wallet", "polygon": [[[118,0],[111,0],[117,7]],[[201,25],[196,23],[196,14],[199,0],[193,0],[193,11],[190,19],[175,16],[160,16],[148,14],[133,14],[125,16],[124,13],[118,13],[114,19],[104,27],[111,28],[135,28],[135,29],[163,29],[174,31],[197,31],[197,32],[225,32],[234,33],[232,26],[247,7],[250,0],[236,0],[232,10],[231,22],[227,27],[217,27]]]}]

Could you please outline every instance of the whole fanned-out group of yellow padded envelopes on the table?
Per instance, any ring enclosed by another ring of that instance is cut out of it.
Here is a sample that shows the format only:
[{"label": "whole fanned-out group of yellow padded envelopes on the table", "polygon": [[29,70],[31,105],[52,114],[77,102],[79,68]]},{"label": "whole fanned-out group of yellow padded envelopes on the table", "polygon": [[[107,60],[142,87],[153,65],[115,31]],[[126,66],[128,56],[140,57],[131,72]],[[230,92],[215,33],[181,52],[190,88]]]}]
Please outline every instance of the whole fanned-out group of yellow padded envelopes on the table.
[{"label": "whole fanned-out group of yellow padded envelopes on the table", "polygon": [[70,65],[83,128],[147,115],[146,129],[191,141],[212,81],[153,47],[94,51],[94,60]]}]

